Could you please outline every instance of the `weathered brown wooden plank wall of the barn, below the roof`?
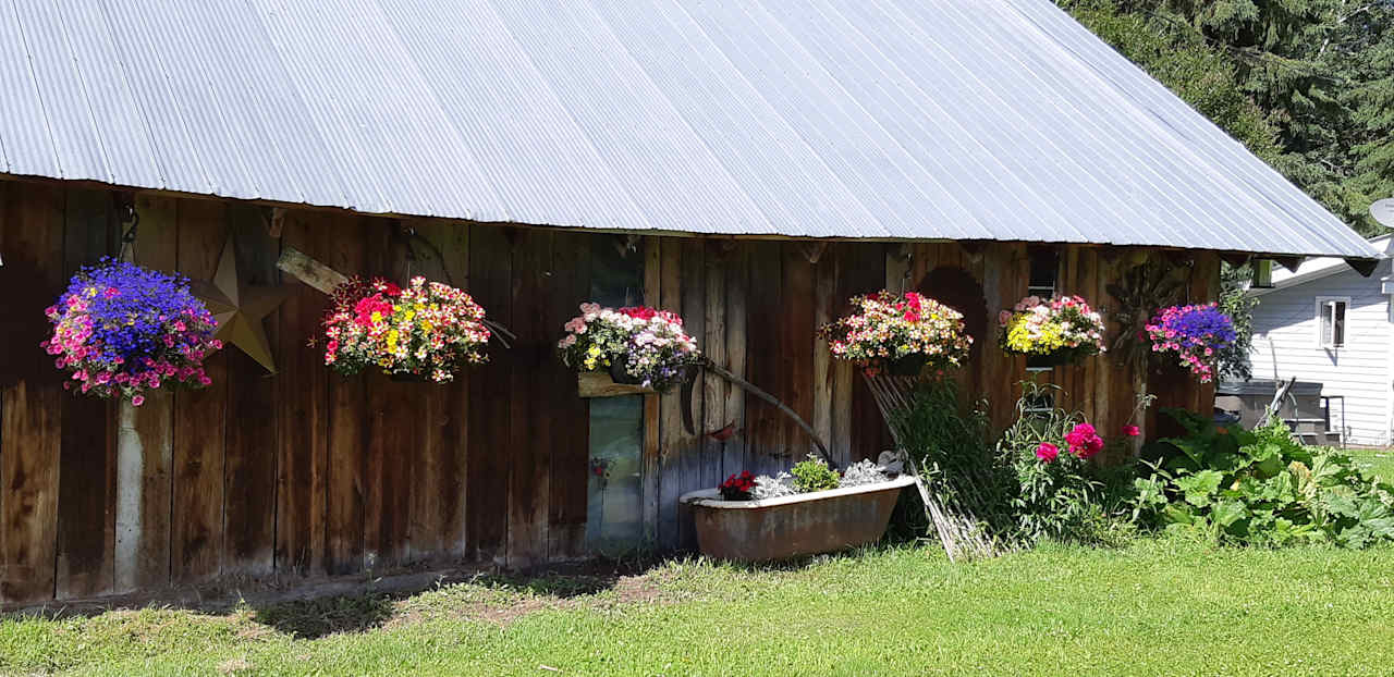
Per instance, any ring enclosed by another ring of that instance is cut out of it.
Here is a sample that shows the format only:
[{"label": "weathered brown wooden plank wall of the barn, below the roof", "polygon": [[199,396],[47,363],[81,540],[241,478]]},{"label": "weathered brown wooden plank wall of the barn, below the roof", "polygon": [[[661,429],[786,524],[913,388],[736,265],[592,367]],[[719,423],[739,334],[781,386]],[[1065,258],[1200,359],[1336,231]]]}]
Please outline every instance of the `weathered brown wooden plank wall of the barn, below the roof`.
[{"label": "weathered brown wooden plank wall of the barn, below the roof", "polygon": [[[528,567],[581,557],[588,405],[553,345],[585,301],[594,238],[618,235],[289,210],[138,195],[138,262],[208,279],[233,235],[241,276],[291,284],[265,329],[279,373],[237,348],[208,364],[213,386],[145,405],[78,398],[38,343],[43,306],[84,263],[120,245],[116,195],[0,181],[0,603],[88,598],[223,575],[302,577],[435,561]],[[442,252],[408,248],[415,228]],[[294,247],[344,273],[410,273],[467,288],[517,333],[447,387],[340,378],[307,340],[326,298],[275,269]],[[1025,294],[1022,244],[776,242],[643,238],[644,299],[682,313],[714,359],[775,393],[839,462],[891,442],[853,368],[814,329],[853,294],[882,287],[986,305],[959,379],[1009,421],[1022,358],[997,347],[995,313]],[[1107,252],[1061,248],[1061,291],[1107,305]],[[1213,294],[1217,259],[1195,259],[1192,295]],[[967,301],[963,301],[967,299]],[[1051,376],[1111,429],[1133,379],[1101,359]],[[1161,383],[1171,404],[1204,405],[1193,382]],[[813,447],[767,404],[704,376],[683,426],[677,393],[644,404],[644,524],[659,546],[690,543],[676,497],[751,469],[785,469]],[[708,432],[732,425],[718,440]]]}]

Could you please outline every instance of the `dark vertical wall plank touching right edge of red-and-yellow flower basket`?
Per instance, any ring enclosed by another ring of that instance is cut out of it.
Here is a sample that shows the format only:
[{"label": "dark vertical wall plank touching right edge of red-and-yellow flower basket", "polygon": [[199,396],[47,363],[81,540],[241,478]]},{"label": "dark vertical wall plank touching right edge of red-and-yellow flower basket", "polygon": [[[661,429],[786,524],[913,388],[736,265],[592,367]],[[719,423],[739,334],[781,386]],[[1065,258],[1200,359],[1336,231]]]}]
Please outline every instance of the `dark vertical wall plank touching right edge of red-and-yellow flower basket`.
[{"label": "dark vertical wall plank touching right edge of red-and-yellow flower basket", "polygon": [[[470,227],[470,287],[491,318],[513,326],[512,244],[505,228]],[[489,364],[470,376],[470,490],[468,524],[477,559],[503,563],[509,517],[512,449],[499,449],[510,436],[513,352],[489,344]]]}]

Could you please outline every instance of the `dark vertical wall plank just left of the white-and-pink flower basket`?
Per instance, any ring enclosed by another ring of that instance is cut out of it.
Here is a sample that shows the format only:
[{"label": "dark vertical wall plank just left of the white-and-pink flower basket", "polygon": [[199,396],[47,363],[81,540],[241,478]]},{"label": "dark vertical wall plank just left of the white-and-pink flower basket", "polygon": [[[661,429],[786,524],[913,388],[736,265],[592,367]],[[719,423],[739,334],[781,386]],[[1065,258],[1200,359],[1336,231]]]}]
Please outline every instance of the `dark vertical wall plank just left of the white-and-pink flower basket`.
[{"label": "dark vertical wall plank just left of the white-and-pink flower basket", "polygon": [[509,447],[509,567],[530,568],[546,560],[551,499],[552,417],[548,389],[538,375],[552,357],[546,319],[546,281],[552,259],[552,233],[517,231],[513,255],[513,350]]}]

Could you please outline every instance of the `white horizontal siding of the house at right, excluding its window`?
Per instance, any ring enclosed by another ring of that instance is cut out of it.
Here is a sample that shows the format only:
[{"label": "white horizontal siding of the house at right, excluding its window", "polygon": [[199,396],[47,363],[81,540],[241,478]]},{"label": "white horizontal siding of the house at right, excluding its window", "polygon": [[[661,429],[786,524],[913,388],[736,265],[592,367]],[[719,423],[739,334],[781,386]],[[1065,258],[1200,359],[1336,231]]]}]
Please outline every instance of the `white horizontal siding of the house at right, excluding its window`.
[{"label": "white horizontal siding of the house at right, excluding its window", "polygon": [[[1355,444],[1390,443],[1390,308],[1379,279],[1390,262],[1370,277],[1342,270],[1259,297],[1253,309],[1256,379],[1312,380],[1322,394],[1345,397],[1345,421],[1333,412],[1333,428]],[[1327,350],[1317,340],[1316,299],[1349,297],[1345,345]]]}]

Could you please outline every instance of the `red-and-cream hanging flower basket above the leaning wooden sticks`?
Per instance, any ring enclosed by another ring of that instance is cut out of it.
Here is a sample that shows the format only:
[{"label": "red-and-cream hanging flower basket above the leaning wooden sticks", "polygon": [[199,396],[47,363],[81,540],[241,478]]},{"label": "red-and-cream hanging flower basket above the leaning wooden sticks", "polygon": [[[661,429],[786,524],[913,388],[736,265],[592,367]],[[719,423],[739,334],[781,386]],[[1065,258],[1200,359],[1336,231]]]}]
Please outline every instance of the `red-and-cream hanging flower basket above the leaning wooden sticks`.
[{"label": "red-and-cream hanging flower basket above the leaning wooden sticks", "polygon": [[857,312],[818,330],[838,359],[850,359],[868,376],[919,376],[962,366],[973,338],[963,332],[963,315],[907,291],[878,291],[852,298]]}]

